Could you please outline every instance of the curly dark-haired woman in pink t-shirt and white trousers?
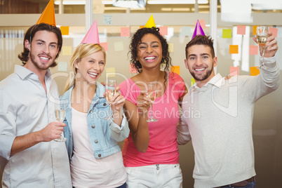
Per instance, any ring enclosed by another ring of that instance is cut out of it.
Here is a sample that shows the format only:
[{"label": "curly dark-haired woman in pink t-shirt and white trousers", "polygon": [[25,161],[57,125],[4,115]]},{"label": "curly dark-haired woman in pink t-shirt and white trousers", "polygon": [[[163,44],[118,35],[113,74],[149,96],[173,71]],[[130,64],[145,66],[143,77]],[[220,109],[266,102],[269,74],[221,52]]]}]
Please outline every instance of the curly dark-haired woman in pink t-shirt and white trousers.
[{"label": "curly dark-haired woman in pink t-shirt and white trousers", "polygon": [[[178,105],[187,92],[183,79],[170,72],[168,43],[159,28],[142,28],[130,43],[130,63],[139,74],[120,84],[126,99],[130,135],[123,144],[128,187],[182,187],[177,148]],[[147,82],[156,83],[156,100],[147,98]],[[154,103],[156,122],[147,122]]]}]

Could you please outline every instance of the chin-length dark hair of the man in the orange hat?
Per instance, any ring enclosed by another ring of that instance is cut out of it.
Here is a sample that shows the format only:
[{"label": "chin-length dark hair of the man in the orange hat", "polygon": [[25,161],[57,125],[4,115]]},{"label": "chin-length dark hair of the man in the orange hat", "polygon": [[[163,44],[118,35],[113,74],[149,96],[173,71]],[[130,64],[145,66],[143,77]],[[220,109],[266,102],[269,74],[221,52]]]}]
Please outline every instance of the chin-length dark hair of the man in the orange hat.
[{"label": "chin-length dark hair of the man in the orange hat", "polygon": [[[52,25],[48,25],[46,23],[40,23],[39,25],[32,25],[32,27],[29,27],[29,29],[27,29],[27,32],[25,33],[25,38],[23,42],[23,52],[18,55],[18,58],[22,61],[23,65],[25,65],[27,63],[27,60],[29,59],[28,57],[29,49],[25,48],[25,40],[28,40],[29,43],[31,44],[34,35],[36,34],[36,32],[39,31],[53,32],[54,34],[56,34],[58,38],[59,51],[55,59],[59,57],[60,51],[62,49],[62,32],[60,28]],[[57,64],[58,64],[57,62],[53,62],[53,64],[50,67],[55,67]]]}]

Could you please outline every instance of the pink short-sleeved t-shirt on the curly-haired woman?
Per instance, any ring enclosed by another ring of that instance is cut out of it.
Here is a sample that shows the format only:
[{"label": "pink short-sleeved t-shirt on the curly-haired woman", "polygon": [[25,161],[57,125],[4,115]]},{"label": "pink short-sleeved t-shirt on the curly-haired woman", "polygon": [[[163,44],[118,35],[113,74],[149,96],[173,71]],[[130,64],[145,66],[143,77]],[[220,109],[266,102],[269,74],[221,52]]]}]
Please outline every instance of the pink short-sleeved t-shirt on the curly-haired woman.
[{"label": "pink short-sleeved t-shirt on the curly-haired woman", "polygon": [[[179,163],[176,126],[180,117],[178,100],[184,93],[185,85],[178,74],[171,72],[166,84],[166,92],[154,101],[154,118],[159,121],[148,123],[150,140],[147,151],[138,152],[130,134],[124,140],[122,154],[126,167]],[[137,105],[136,98],[140,95],[140,88],[132,79],[123,81],[120,88],[123,97]]]}]

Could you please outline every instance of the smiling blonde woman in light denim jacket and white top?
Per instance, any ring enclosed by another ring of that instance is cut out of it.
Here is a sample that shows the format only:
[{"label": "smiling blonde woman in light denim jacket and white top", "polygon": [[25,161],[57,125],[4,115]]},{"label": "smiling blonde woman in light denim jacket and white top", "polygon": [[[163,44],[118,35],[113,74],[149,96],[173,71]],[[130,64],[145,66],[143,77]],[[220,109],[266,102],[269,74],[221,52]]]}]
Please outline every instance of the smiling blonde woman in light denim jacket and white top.
[{"label": "smiling blonde woman in light denim jacket and white top", "polygon": [[118,145],[129,133],[122,112],[125,100],[116,92],[111,106],[115,119],[104,120],[109,104],[98,78],[105,64],[106,53],[100,44],[77,46],[71,59],[74,74],[60,98],[66,101],[64,135],[73,187],[126,187],[126,170]]}]

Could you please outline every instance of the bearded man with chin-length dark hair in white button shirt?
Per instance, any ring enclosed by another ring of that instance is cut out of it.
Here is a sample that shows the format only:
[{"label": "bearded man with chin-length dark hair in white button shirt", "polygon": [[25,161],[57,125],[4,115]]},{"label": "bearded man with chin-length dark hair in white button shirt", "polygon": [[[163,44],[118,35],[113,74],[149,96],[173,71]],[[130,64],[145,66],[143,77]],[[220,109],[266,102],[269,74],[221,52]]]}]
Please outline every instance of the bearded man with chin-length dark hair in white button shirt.
[{"label": "bearded man with chin-length dark hair in white button shirt", "polygon": [[48,69],[61,48],[58,27],[33,25],[18,56],[24,65],[0,82],[2,187],[72,187],[65,143],[54,141],[65,123],[55,119],[59,93]]}]

